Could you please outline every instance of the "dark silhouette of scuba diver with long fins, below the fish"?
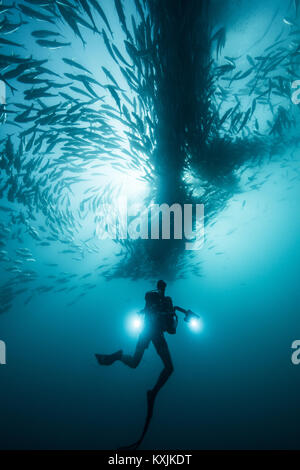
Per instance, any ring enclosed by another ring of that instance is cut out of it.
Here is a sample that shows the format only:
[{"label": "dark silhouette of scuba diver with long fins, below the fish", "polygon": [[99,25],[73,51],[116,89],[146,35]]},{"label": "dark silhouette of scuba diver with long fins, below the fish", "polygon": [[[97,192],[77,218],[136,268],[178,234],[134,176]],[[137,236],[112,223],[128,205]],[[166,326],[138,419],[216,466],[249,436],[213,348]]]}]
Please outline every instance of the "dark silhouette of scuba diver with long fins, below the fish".
[{"label": "dark silhouette of scuba diver with long fins, below the fish", "polygon": [[133,355],[123,354],[122,350],[113,354],[95,354],[98,363],[101,365],[109,366],[115,361],[121,361],[129,367],[136,368],[141,362],[145,350],[152,342],[164,364],[164,368],[156,384],[147,392],[148,411],[141,437],[137,442],[131,446],[123,447],[123,449],[137,448],[141,444],[152,418],[155,398],[174,370],[164,333],[175,334],[178,324],[178,317],[175,310],[177,309],[184,313],[186,313],[186,311],[180,307],[173,307],[171,297],[165,296],[166,287],[167,284],[165,281],[160,280],[157,282],[157,290],[147,292],[145,295],[146,305],[141,311],[141,313],[143,312],[145,314],[144,326],[139,335]]}]

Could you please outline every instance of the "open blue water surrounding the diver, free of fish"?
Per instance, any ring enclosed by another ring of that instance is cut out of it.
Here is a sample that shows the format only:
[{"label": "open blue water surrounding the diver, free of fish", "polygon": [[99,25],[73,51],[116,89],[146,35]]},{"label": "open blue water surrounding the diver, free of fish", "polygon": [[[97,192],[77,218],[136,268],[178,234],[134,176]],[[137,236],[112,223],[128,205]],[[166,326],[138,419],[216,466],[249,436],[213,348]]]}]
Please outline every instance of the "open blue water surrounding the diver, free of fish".
[{"label": "open blue water surrounding the diver, free of fish", "polygon": [[[232,3],[237,9],[227,12],[227,47],[234,56],[255,43],[257,25],[263,33],[275,5]],[[285,2],[276,4],[285,8]],[[117,28],[113,11],[105,11]],[[281,24],[282,17],[271,38]],[[237,37],[240,52],[233,49]],[[85,65],[96,67],[97,46],[84,54],[80,44],[74,41],[74,57],[85,55]],[[174,304],[199,313],[203,330],[191,331],[180,318],[177,334],[168,336],[175,372],[159,394],[143,449],[299,449],[300,366],[291,362],[291,344],[300,337],[299,160],[299,150],[290,147],[247,170],[240,193],[205,227],[196,254],[201,277],[168,282]],[[247,179],[257,170],[256,181],[264,183],[250,189]],[[29,237],[24,243],[36,258],[36,285],[67,272],[91,273],[86,282],[97,287],[77,286],[86,295],[69,306],[72,292],[36,294],[28,305],[19,296],[0,315],[7,346],[7,364],[0,366],[0,448],[114,449],[134,441],[160,359],[150,346],[136,370],[120,363],[100,368],[94,353],[134,350],[137,338],[127,320],[154,284],[107,281],[96,268],[118,252],[110,241],[95,242],[99,251],[81,262],[59,253],[58,243],[47,249]],[[16,246],[9,241],[5,249],[13,256]],[[58,266],[46,267],[51,262]],[[2,283],[7,276],[2,270]]]}]

